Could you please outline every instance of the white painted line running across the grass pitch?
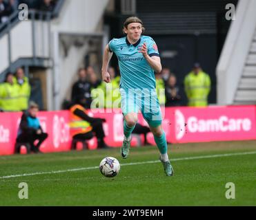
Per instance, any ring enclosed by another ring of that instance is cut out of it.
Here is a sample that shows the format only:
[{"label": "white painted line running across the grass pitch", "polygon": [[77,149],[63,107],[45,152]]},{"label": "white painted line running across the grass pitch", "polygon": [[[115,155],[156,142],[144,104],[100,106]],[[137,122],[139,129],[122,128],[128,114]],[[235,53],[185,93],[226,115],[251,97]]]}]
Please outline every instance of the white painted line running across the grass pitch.
[{"label": "white painted line running across the grass pitch", "polygon": [[[173,158],[173,159],[171,159],[171,162],[181,161],[181,160],[189,160],[189,159],[208,159],[208,158],[215,158],[215,157],[231,157],[231,156],[237,156],[237,155],[251,155],[251,154],[256,154],[256,151],[248,151],[248,152],[241,152],[241,153],[226,153],[226,154],[216,154],[216,155],[204,155],[204,156],[197,156],[197,157]],[[121,166],[140,165],[140,164],[155,164],[155,163],[159,163],[159,160],[121,164]],[[99,166],[90,166],[90,167],[73,168],[73,169],[68,169],[68,170],[55,170],[55,171],[52,170],[52,171],[47,171],[47,172],[23,173],[23,174],[17,174],[17,175],[3,176],[3,177],[0,177],[0,179],[10,179],[10,178],[14,178],[14,177],[28,177],[28,176],[46,175],[46,174],[55,174],[55,173],[68,173],[68,172],[75,172],[75,171],[81,171],[81,170],[94,170],[94,169],[98,169],[98,168],[99,168]]]}]

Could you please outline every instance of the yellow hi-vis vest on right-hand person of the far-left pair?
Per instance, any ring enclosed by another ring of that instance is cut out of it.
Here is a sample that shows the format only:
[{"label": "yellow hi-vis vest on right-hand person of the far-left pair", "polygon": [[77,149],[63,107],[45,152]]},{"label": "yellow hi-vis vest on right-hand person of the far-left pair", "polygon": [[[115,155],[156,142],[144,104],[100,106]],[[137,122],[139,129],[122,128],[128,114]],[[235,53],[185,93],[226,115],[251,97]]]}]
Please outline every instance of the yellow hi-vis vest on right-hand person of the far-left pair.
[{"label": "yellow hi-vis vest on right-hand person of the far-left pair", "polygon": [[27,110],[28,109],[28,101],[30,99],[30,84],[28,82],[28,78],[24,77],[23,78],[24,82],[22,85],[19,85],[17,78],[14,78],[14,83],[17,83],[19,87],[19,98],[17,100],[17,104],[20,107],[20,110]]}]

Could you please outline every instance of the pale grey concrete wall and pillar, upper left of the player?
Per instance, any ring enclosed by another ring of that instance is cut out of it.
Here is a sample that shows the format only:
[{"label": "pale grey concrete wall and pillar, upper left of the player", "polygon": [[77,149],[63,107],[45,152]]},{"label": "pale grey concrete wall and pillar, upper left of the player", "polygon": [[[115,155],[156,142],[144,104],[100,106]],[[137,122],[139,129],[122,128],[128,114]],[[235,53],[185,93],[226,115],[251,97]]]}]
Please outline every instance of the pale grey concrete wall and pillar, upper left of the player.
[{"label": "pale grey concrete wall and pillar, upper left of the player", "polygon": [[60,16],[52,21],[52,58],[55,61],[54,74],[54,98],[53,109],[61,108],[64,98],[70,96],[70,88],[76,78],[77,69],[88,51],[87,42],[81,47],[71,45],[68,48],[68,56],[63,56],[63,45],[60,36],[69,36],[79,39],[93,34],[102,34],[103,14],[108,5],[108,0],[66,0]]}]

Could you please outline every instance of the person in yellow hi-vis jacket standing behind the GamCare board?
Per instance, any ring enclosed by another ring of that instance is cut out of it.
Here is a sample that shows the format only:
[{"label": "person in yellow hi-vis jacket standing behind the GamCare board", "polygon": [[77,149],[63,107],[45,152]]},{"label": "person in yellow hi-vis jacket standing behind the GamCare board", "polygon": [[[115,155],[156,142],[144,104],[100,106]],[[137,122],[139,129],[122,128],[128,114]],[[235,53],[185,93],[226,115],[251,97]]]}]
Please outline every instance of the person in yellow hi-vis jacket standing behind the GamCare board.
[{"label": "person in yellow hi-vis jacket standing behind the GamCare board", "polygon": [[186,76],[184,86],[188,97],[188,106],[206,107],[208,105],[210,76],[202,71],[199,63],[195,63],[192,72]]}]

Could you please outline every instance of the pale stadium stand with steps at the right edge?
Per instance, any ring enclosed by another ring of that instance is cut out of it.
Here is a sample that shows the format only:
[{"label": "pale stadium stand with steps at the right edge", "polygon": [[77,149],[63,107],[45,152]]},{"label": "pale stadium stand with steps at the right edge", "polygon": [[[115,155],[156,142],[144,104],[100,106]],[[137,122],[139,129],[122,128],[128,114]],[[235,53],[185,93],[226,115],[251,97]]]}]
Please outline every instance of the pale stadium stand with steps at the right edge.
[{"label": "pale stadium stand with steps at the right edge", "polygon": [[255,1],[239,1],[217,65],[217,103],[256,103]]}]

